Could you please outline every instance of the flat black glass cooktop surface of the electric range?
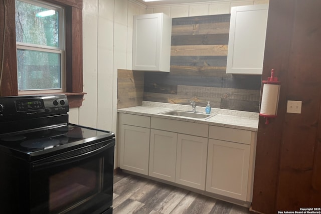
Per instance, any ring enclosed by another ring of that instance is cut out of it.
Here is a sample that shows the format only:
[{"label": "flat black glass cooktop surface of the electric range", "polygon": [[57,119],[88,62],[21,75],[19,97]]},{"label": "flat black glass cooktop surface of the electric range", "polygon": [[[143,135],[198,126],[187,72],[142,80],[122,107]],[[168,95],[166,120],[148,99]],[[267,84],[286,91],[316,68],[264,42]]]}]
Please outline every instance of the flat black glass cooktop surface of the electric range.
[{"label": "flat black glass cooktop surface of the electric range", "polygon": [[114,136],[114,133],[109,131],[68,124],[34,132],[0,136],[0,151],[27,160],[40,159],[84,146],[86,143],[109,140]]}]

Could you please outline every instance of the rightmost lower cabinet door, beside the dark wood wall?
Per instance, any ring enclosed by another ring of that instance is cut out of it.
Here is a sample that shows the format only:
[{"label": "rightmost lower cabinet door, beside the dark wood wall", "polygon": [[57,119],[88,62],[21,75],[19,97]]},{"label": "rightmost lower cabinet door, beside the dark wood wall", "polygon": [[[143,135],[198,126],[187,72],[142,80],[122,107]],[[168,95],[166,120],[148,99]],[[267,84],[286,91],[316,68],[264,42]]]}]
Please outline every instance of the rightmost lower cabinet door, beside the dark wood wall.
[{"label": "rightmost lower cabinet door, beside the dark wood wall", "polygon": [[209,139],[206,191],[246,201],[250,145]]}]

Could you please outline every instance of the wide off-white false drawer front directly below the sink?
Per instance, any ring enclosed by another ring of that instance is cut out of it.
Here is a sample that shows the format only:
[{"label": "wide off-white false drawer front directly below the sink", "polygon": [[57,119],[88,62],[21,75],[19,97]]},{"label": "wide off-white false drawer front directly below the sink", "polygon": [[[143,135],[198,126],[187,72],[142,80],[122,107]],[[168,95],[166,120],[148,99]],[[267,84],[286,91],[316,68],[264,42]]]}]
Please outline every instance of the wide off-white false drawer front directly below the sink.
[{"label": "wide off-white false drawer front directly below the sink", "polygon": [[153,129],[161,129],[165,131],[196,135],[200,137],[207,137],[209,132],[208,125],[206,124],[169,120],[156,117],[151,118],[150,127]]}]

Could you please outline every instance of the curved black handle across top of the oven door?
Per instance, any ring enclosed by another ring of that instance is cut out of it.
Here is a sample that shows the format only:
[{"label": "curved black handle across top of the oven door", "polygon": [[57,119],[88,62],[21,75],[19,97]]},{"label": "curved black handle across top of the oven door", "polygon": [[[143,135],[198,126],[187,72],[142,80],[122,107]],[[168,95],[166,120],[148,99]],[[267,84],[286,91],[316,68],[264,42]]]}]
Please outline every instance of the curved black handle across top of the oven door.
[{"label": "curved black handle across top of the oven door", "polygon": [[[103,146],[101,146],[101,144],[96,145],[93,150],[89,150],[87,152],[78,152],[78,153],[70,152],[70,154],[68,155],[62,155],[63,156],[62,158],[59,158],[58,156],[58,157],[55,157],[54,159],[48,159],[45,162],[41,161],[38,163],[34,163],[32,167],[35,170],[39,170],[39,169],[52,168],[54,166],[69,164],[72,162],[90,158],[94,155],[104,152],[105,150],[107,150],[110,147],[113,147],[114,145],[115,145],[114,141],[111,143],[107,143],[106,145],[103,145]],[[97,146],[99,147],[96,148]]]}]

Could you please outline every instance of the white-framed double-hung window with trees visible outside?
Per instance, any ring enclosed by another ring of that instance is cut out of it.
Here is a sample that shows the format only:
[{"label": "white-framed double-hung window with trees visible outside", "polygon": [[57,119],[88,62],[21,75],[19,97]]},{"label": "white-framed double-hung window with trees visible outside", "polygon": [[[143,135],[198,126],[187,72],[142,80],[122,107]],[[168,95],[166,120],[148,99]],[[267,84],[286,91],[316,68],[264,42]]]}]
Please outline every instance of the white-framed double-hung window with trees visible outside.
[{"label": "white-framed double-hung window with trees visible outside", "polygon": [[19,94],[65,90],[64,9],[16,0]]}]

